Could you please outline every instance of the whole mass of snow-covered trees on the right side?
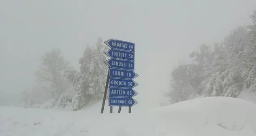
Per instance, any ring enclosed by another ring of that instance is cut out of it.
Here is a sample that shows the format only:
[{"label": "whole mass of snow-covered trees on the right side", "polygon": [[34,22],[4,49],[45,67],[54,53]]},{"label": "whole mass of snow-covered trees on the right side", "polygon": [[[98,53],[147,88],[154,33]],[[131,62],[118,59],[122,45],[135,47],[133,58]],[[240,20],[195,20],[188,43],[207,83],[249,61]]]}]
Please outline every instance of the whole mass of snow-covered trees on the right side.
[{"label": "whole mass of snow-covered trees on the right side", "polygon": [[190,54],[195,63],[179,65],[172,71],[169,95],[173,102],[190,99],[192,92],[237,97],[243,88],[256,91],[256,11],[252,18],[250,29],[234,29],[223,42],[214,44],[213,50],[201,45],[198,52]]}]

